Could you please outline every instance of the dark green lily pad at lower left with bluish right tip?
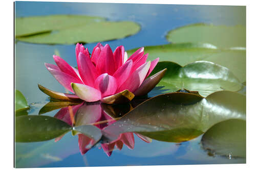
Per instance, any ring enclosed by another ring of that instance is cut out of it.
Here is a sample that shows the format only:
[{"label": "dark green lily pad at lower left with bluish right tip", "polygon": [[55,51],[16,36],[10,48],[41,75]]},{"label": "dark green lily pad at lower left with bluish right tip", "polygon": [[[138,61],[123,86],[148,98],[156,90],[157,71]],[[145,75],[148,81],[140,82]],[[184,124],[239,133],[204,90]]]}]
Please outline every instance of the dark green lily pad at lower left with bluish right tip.
[{"label": "dark green lily pad at lower left with bluish right tip", "polygon": [[42,115],[24,115],[15,119],[15,141],[36,142],[59,137],[69,131],[77,131],[94,139],[101,138],[101,131],[93,125],[71,127],[60,119]]}]

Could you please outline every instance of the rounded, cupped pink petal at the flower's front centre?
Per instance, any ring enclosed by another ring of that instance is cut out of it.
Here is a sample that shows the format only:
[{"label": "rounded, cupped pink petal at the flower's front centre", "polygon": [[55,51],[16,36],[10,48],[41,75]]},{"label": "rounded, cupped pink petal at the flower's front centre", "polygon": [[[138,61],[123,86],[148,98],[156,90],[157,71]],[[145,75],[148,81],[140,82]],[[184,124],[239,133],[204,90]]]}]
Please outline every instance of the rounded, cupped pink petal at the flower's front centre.
[{"label": "rounded, cupped pink petal at the flower's front centre", "polygon": [[95,88],[101,91],[102,97],[115,94],[117,89],[116,78],[104,73],[95,80]]}]

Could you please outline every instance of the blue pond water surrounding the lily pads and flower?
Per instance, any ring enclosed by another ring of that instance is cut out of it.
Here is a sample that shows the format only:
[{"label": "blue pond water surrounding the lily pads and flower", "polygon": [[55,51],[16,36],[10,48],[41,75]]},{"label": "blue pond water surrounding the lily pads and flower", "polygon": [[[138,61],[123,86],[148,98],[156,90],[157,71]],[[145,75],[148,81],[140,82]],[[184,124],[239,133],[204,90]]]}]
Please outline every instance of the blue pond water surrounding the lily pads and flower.
[{"label": "blue pond water surrounding the lily pads and flower", "polygon": [[[50,3],[15,2],[16,17],[51,14],[79,14],[102,16],[108,20],[132,20],[140,24],[139,33],[123,39],[105,41],[114,50],[124,45],[125,50],[147,45],[167,44],[165,35],[169,30],[191,23],[212,23],[214,25],[245,25],[245,8],[235,6],[187,6],[146,4],[100,4],[100,3]],[[86,44],[92,52],[97,43]],[[56,53],[70,65],[76,66],[75,45],[46,45],[17,41],[15,44],[15,89],[26,97],[31,109],[29,114],[37,115],[49,102],[37,84],[52,90],[65,89],[52,77],[44,63],[54,63]],[[150,55],[150,54],[149,54]],[[53,116],[58,110],[46,113]],[[220,164],[245,163],[245,158],[212,156],[201,147],[199,136],[182,143],[153,140],[142,141],[134,135],[135,148],[125,145],[114,150],[108,157],[100,145],[81,155],[78,137],[69,132],[58,142],[53,140],[32,143],[15,143],[16,167],[69,167],[69,166],[118,166],[118,165],[173,165],[173,164]]]}]

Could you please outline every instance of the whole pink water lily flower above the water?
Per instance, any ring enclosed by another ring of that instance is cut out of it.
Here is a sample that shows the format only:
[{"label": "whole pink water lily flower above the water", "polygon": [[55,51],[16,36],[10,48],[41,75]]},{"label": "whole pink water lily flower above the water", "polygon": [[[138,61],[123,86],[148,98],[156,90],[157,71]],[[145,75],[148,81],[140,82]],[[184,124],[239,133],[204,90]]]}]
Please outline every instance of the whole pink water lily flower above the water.
[{"label": "whole pink water lily flower above the water", "polygon": [[159,58],[152,62],[146,61],[147,56],[148,54],[144,54],[144,47],[139,48],[128,58],[122,45],[113,53],[109,44],[103,46],[101,43],[94,47],[90,55],[88,48],[77,43],[78,69],[56,55],[53,58],[57,65],[45,65],[62,86],[75,93],[60,95],[72,99],[79,98],[86,102],[101,100],[103,103],[115,103],[118,101],[117,98],[124,95],[125,90],[132,92],[132,100],[134,95],[147,94],[161,80],[166,69],[147,78],[159,61]]}]

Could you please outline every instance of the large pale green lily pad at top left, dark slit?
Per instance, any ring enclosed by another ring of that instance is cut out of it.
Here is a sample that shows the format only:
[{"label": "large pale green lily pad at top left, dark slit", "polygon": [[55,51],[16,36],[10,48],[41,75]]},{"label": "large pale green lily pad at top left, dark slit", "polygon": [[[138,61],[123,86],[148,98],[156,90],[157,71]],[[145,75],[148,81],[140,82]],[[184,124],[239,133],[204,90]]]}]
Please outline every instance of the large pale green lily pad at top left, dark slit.
[{"label": "large pale green lily pad at top left, dark slit", "polygon": [[105,21],[101,17],[79,15],[49,15],[16,18],[15,33],[18,40],[30,43],[75,44],[120,39],[136,34],[139,30],[138,23],[132,21]]}]

